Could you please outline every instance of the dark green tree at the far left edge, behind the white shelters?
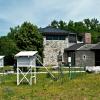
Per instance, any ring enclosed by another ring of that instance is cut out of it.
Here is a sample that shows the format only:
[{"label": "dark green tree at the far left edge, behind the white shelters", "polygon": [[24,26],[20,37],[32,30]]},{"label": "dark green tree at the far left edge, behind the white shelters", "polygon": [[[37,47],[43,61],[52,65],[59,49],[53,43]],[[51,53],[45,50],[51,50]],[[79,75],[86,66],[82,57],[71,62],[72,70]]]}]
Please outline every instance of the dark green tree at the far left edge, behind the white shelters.
[{"label": "dark green tree at the far left edge, behind the white shelters", "polygon": [[18,51],[15,42],[8,37],[0,38],[0,55],[5,56],[5,65],[11,65],[14,63],[14,55]]}]

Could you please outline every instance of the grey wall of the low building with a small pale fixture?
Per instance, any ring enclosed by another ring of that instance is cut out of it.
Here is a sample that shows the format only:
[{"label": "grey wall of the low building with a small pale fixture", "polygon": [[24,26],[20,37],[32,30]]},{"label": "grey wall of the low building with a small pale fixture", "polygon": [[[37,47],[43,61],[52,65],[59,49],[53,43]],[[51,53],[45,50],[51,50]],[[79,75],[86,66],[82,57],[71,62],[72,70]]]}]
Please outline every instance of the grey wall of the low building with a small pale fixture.
[{"label": "grey wall of the low building with a small pale fixture", "polygon": [[95,53],[92,51],[76,51],[76,66],[95,66]]}]

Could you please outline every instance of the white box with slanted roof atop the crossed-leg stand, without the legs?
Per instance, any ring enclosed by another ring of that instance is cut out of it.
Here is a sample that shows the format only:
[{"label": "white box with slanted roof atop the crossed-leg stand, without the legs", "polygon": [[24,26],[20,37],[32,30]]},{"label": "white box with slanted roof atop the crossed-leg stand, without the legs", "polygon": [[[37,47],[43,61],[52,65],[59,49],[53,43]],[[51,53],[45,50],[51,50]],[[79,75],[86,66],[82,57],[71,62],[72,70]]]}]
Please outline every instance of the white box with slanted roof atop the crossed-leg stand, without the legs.
[{"label": "white box with slanted roof atop the crossed-leg stand, without the legs", "polygon": [[36,66],[37,51],[21,51],[15,55],[17,58],[17,67],[34,67]]}]

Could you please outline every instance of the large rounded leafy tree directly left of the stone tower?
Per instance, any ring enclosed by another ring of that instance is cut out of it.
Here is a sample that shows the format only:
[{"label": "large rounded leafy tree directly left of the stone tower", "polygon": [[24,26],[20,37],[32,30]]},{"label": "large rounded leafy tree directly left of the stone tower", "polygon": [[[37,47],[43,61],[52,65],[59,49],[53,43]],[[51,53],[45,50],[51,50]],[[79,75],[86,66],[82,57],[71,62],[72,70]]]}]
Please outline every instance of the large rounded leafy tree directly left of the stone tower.
[{"label": "large rounded leafy tree directly left of the stone tower", "polygon": [[37,26],[24,22],[21,26],[10,29],[8,37],[14,39],[20,50],[43,51],[43,37]]}]

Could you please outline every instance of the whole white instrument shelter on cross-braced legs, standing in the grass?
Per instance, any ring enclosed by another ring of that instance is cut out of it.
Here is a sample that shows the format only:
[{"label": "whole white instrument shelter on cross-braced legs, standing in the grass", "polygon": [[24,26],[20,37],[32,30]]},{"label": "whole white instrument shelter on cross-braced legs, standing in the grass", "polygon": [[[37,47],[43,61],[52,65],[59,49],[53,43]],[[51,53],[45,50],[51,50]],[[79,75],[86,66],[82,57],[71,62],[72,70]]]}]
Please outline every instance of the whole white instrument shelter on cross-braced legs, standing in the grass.
[{"label": "whole white instrument shelter on cross-braced legs, standing in the grass", "polygon": [[[32,79],[36,84],[36,54],[37,51],[21,51],[15,55],[17,58],[17,85],[19,85],[24,79],[32,85]],[[27,72],[23,72],[21,68],[28,68]],[[34,74],[32,68],[34,67]],[[22,77],[20,77],[22,75]],[[29,78],[27,77],[29,75]]]}]

